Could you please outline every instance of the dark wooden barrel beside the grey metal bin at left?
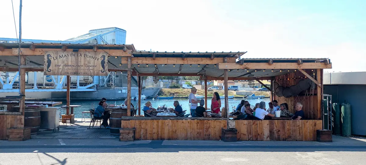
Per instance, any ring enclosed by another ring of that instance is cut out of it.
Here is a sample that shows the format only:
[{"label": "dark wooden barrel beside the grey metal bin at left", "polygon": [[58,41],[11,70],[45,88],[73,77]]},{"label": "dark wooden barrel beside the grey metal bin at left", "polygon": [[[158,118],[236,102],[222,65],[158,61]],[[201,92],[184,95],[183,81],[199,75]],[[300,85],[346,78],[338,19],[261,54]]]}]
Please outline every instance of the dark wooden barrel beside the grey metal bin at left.
[{"label": "dark wooden barrel beside the grey metal bin at left", "polygon": [[24,126],[31,127],[30,134],[37,134],[41,126],[40,108],[26,107],[24,109]]}]

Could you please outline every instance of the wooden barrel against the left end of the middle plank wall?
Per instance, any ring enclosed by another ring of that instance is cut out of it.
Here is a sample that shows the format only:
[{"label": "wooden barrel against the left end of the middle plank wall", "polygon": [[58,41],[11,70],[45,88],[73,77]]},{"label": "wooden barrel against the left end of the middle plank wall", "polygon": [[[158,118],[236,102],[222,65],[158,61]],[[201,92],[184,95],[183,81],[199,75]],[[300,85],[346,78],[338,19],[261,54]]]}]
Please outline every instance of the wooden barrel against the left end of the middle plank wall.
[{"label": "wooden barrel against the left end of the middle plank wall", "polygon": [[109,118],[109,130],[111,131],[111,135],[119,135],[122,116],[127,116],[127,109],[112,109],[111,117]]}]

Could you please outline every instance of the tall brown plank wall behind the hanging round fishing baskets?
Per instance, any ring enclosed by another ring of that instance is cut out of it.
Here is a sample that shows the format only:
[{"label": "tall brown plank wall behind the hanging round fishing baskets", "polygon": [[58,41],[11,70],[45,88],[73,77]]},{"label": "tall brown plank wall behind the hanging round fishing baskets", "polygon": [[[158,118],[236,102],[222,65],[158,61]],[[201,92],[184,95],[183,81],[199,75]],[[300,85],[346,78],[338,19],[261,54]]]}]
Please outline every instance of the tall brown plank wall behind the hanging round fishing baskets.
[{"label": "tall brown plank wall behind the hanging round fishing baskets", "polygon": [[[311,70],[305,70],[309,75],[313,75],[313,72]],[[315,70],[314,70],[315,71]],[[294,79],[296,78],[296,79]],[[290,87],[292,85],[297,85],[300,80],[306,79],[305,75],[303,75],[301,72],[296,71],[292,72],[290,74],[275,76],[274,78],[279,83],[280,86],[284,87]],[[278,79],[285,79],[285,80],[278,80]],[[288,80],[289,79],[289,80]],[[318,87],[318,86],[317,86]],[[273,95],[273,100],[277,100],[279,105],[282,103],[288,104],[288,109],[290,112],[295,113],[295,106],[297,102],[300,102],[303,105],[302,110],[305,113],[305,119],[309,120],[320,120],[321,116],[318,115],[318,100],[317,100],[317,87],[314,89],[314,95],[310,95],[310,90],[308,90],[307,95],[300,95],[300,96],[292,96],[290,98],[285,97],[278,97],[276,94]],[[273,89],[275,90],[275,89]],[[305,94],[302,92],[302,94]]]}]

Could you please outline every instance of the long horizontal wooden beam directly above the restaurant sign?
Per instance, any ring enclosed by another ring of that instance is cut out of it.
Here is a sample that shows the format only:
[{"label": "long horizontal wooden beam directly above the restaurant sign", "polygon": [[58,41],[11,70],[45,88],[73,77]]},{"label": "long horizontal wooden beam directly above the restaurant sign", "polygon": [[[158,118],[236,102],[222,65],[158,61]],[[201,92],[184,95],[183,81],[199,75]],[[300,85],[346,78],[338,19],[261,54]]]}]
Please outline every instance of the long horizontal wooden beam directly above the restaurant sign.
[{"label": "long horizontal wooden beam directly above the restaurant sign", "polygon": [[[5,51],[7,50],[7,51]],[[11,52],[8,51],[8,49],[5,49],[2,53],[3,56],[18,56],[18,48],[12,48],[10,49]],[[27,49],[27,48],[21,48],[23,55],[26,56],[44,56],[45,51],[71,51],[72,49],[48,49],[48,48],[35,48],[34,51]],[[94,52],[93,49],[79,49],[79,52]],[[121,49],[98,49],[96,52],[107,52],[109,55],[112,56],[131,56],[131,50],[127,50],[126,52],[123,52]]]}]

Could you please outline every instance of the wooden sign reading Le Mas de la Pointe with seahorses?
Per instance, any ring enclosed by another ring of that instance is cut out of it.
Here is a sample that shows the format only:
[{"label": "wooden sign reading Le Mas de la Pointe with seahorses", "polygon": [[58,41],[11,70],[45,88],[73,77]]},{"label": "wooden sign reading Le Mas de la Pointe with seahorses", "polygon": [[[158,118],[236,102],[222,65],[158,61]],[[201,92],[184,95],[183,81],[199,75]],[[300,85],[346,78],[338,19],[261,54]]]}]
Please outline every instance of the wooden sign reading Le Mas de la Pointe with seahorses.
[{"label": "wooden sign reading Le Mas de la Pointe with seahorses", "polygon": [[44,75],[108,75],[105,52],[46,51],[44,59]]}]

